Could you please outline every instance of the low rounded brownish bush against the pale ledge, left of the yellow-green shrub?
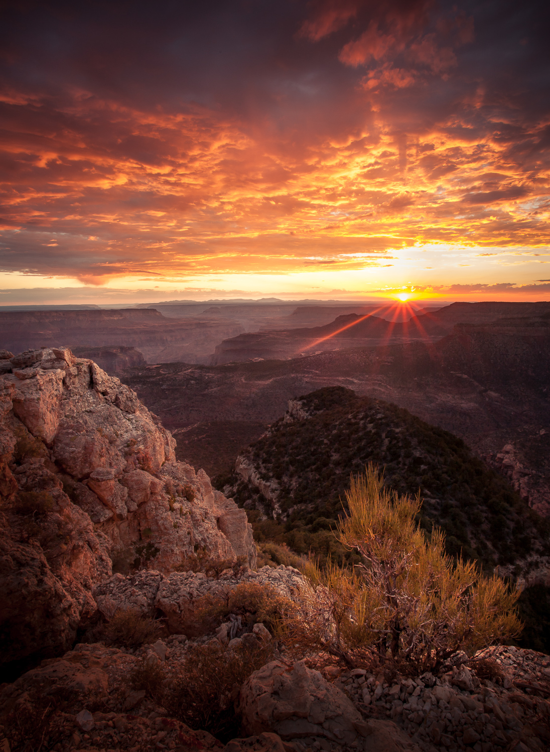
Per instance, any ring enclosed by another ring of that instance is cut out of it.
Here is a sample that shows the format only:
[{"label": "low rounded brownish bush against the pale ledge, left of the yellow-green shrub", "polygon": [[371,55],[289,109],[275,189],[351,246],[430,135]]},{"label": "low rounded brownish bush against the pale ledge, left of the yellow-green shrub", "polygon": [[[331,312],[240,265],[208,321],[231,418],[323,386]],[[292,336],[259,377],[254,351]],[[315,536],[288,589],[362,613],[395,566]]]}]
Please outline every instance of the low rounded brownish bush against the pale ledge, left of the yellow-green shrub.
[{"label": "low rounded brownish bush against the pale ledge, left of the yellow-green shrub", "polygon": [[229,590],[226,596],[203,596],[197,603],[197,618],[222,622],[229,614],[241,617],[243,626],[253,626],[261,621],[272,631],[291,617],[296,606],[281,596],[271,585],[242,582]]}]

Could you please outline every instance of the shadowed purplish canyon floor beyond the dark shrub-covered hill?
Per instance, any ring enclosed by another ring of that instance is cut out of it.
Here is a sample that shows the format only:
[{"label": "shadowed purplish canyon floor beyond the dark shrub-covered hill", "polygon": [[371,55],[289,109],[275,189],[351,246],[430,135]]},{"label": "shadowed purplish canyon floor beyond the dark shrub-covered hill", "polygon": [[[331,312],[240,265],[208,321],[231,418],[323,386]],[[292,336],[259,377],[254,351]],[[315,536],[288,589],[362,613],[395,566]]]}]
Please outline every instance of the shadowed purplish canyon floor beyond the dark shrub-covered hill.
[{"label": "shadowed purplish canyon floor beyond the dark shrub-covered hill", "polygon": [[[266,423],[281,417],[289,399],[340,385],[406,408],[460,436],[479,456],[492,455],[497,464],[497,455],[512,444],[516,475],[528,476],[525,493],[538,498],[544,511],[550,475],[550,330],[545,321],[528,323],[457,326],[433,344],[354,348],[290,360],[214,367],[166,363],[133,368],[125,378],[170,429],[194,426],[185,454],[194,462],[211,458],[212,474],[226,471],[226,456],[233,448],[239,453]],[[232,436],[226,428],[205,428],[214,416],[233,423]]]}]

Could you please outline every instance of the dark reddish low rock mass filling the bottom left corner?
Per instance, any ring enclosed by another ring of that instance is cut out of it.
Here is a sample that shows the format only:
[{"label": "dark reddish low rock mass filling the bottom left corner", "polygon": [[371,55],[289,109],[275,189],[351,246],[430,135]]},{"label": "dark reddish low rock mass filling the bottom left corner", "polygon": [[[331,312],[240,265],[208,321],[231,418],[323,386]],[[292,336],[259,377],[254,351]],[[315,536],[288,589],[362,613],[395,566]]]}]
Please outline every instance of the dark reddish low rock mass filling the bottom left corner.
[{"label": "dark reddish low rock mass filling the bottom left corner", "polygon": [[50,735],[64,750],[220,752],[214,736],[156,712],[162,708],[144,690],[128,686],[140,665],[137,656],[102,644],[78,644],[44,661],[0,690],[0,748],[38,749]]}]

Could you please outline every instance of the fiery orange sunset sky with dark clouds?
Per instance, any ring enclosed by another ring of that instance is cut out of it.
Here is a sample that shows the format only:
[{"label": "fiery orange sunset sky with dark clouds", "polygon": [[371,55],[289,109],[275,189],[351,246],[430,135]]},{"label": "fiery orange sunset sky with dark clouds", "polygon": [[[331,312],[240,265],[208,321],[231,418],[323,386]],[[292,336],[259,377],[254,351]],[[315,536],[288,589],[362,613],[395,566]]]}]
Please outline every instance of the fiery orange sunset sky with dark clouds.
[{"label": "fiery orange sunset sky with dark clouds", "polygon": [[1,13],[0,305],[550,299],[547,2]]}]

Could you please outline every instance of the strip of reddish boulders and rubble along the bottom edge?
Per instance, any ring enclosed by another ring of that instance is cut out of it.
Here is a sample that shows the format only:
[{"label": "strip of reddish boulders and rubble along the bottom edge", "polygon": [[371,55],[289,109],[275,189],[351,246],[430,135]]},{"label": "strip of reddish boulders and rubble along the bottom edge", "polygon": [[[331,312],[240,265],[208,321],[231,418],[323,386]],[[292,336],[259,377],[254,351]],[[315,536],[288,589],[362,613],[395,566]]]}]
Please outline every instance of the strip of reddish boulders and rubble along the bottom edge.
[{"label": "strip of reddish boulders and rubble along the bottom edge", "polygon": [[[14,752],[23,749],[21,729],[26,744],[38,747],[47,731],[62,750],[221,749],[207,732],[170,717],[156,704],[162,695],[131,686],[149,665],[170,692],[189,650],[207,640],[171,635],[135,650],[77,644],[43,661],[0,687],[0,749],[6,740]],[[550,743],[550,658],[542,653],[455,653],[437,676],[387,666],[342,670],[327,666],[326,656],[321,665],[318,672],[283,657],[252,673],[236,704],[242,734],[252,735],[229,741],[226,752],[543,752]]]}]

